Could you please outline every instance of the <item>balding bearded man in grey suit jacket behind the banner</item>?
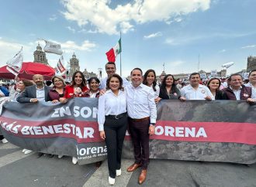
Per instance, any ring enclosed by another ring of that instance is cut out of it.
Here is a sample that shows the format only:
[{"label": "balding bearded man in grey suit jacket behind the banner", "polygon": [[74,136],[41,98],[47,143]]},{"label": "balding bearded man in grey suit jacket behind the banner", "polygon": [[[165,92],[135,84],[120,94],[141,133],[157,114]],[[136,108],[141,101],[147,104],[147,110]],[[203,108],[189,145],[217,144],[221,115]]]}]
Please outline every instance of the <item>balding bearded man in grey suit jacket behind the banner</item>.
[{"label": "balding bearded man in grey suit jacket behind the banner", "polygon": [[33,76],[33,82],[35,85],[26,87],[24,92],[17,98],[19,103],[37,103],[38,101],[49,101],[48,95],[51,87],[47,87],[43,84],[43,76],[36,74]]}]

